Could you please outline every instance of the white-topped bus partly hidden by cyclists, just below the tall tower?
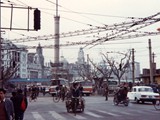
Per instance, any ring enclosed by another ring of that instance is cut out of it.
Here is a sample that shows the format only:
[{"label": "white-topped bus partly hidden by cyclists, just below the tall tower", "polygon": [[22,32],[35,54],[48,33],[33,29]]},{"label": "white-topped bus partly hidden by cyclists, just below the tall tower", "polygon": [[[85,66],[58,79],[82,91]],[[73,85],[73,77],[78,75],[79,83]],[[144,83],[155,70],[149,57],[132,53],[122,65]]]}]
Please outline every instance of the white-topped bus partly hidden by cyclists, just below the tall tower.
[{"label": "white-topped bus partly hidden by cyclists, just below the tall tower", "polygon": [[66,86],[69,89],[69,82],[67,79],[59,78],[59,79],[51,79],[51,86],[49,87],[49,94],[54,96],[56,94],[56,87],[62,85]]}]

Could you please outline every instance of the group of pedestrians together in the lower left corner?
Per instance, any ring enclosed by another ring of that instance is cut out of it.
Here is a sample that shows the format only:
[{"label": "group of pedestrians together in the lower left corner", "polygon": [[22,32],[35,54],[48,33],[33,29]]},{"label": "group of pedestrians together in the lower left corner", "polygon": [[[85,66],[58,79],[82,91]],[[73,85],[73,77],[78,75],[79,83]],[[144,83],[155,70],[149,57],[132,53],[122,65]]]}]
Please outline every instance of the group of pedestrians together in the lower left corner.
[{"label": "group of pedestrians together in the lower left corner", "polygon": [[[0,88],[0,120],[23,120],[28,101],[21,89],[12,92],[11,98],[6,98],[6,90]],[[25,109],[22,109],[24,100]]]}]

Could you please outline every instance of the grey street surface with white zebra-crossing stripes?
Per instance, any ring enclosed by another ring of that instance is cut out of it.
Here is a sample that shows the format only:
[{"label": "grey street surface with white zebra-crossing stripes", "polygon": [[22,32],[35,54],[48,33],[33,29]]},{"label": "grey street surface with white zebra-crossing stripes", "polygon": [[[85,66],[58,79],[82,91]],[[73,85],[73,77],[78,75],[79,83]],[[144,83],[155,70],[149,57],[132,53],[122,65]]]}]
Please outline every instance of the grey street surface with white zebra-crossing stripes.
[{"label": "grey street surface with white zebra-crossing stripes", "polygon": [[39,97],[36,102],[29,102],[24,120],[158,120],[160,111],[151,103],[130,103],[114,106],[112,97],[105,101],[102,96],[84,97],[86,101],[83,113],[67,113],[65,103],[54,103],[51,96]]}]

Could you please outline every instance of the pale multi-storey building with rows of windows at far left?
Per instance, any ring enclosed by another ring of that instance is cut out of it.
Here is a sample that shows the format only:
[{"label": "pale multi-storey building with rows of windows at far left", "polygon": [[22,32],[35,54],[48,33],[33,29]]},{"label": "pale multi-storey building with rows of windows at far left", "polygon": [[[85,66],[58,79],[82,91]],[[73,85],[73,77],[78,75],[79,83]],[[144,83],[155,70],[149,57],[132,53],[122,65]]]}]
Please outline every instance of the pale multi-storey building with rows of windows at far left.
[{"label": "pale multi-storey building with rows of windows at far left", "polygon": [[27,77],[27,53],[28,50],[24,45],[14,45],[10,41],[3,42],[2,47],[2,68],[3,72],[7,69],[13,70],[12,78],[26,78]]}]

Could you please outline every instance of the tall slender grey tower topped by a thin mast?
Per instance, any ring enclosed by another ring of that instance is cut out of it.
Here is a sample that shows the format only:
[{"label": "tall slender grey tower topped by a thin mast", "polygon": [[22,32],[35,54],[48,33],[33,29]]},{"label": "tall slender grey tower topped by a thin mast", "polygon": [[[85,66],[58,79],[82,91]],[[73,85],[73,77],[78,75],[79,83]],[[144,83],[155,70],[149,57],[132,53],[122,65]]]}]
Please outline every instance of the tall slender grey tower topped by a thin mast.
[{"label": "tall slender grey tower topped by a thin mast", "polygon": [[56,0],[56,16],[54,16],[55,20],[54,63],[57,65],[55,67],[55,79],[58,79],[58,71],[59,71],[59,19],[60,16],[58,16],[58,0]]}]

